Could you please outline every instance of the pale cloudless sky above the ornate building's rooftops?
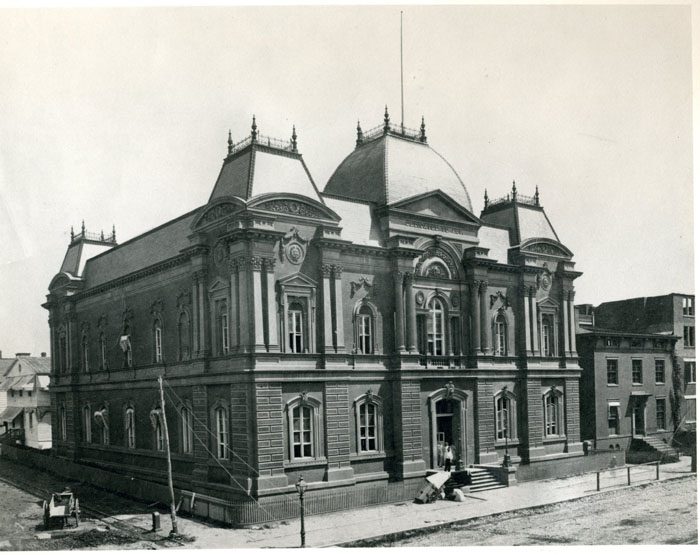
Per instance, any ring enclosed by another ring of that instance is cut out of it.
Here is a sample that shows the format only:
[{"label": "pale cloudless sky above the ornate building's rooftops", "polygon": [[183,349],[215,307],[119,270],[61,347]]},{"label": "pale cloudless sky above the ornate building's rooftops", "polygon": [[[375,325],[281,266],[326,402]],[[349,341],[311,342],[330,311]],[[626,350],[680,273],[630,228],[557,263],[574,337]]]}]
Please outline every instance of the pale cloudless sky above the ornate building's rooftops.
[{"label": "pale cloudless sky above the ornate building's rooftops", "polygon": [[483,194],[530,195],[576,302],[693,292],[689,6],[316,6],[0,12],[0,350],[49,350],[70,240],[206,203],[231,129],[288,138],[322,189],[359,119],[400,120]]}]

